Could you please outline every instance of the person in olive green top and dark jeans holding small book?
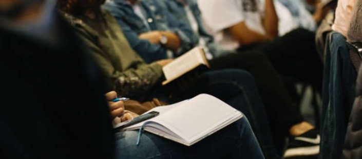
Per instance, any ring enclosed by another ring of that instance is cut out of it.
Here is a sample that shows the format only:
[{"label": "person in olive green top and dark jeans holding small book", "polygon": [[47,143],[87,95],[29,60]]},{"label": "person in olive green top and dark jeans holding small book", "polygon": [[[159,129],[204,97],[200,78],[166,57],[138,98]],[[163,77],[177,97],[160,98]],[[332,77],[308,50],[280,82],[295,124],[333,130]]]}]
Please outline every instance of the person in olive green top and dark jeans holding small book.
[{"label": "person in olive green top and dark jeans holding small book", "polygon": [[[89,1],[87,5],[83,1],[58,2],[64,16],[86,43],[117,93],[141,101],[148,96],[164,99],[168,103],[175,102],[170,100],[170,94],[160,83],[163,79],[162,65],[169,61],[146,64],[132,50],[114,17],[101,10],[103,1]],[[205,72],[182,98],[200,93],[218,97],[251,117],[263,150],[274,151],[263,104],[249,73],[238,69]]]}]

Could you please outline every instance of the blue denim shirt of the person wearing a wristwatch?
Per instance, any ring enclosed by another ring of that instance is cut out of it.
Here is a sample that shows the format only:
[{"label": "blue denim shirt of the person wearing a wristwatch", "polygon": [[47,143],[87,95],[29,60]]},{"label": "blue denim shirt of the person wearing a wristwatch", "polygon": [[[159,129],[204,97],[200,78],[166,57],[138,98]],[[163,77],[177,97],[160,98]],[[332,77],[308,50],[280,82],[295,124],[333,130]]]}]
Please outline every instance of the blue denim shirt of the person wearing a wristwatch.
[{"label": "blue denim shirt of the person wearing a wristwatch", "polygon": [[145,19],[149,28],[144,24],[132,6],[124,0],[113,0],[106,2],[103,8],[108,10],[120,24],[125,37],[131,47],[147,62],[153,62],[167,58],[167,48],[161,44],[152,44],[147,40],[139,38],[139,34],[152,31],[163,30],[176,33],[181,46],[174,51],[174,56],[179,56],[196,45],[189,37],[192,37],[192,30],[187,24],[178,21],[170,15],[162,3],[157,0],[142,0],[140,5],[145,12]]}]

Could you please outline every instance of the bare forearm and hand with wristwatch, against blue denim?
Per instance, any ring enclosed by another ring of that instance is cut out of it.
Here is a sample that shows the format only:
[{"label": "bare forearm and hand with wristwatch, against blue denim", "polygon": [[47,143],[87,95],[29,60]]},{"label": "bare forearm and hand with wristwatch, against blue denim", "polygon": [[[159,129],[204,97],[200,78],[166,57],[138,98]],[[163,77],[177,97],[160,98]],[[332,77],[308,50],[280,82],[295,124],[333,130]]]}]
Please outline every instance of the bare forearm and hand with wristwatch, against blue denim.
[{"label": "bare forearm and hand with wristwatch, against blue denim", "polygon": [[163,44],[166,48],[177,50],[180,48],[181,41],[177,34],[169,31],[149,31],[145,33],[141,33],[139,35],[140,39],[148,40],[150,43],[153,44],[161,44],[162,36],[167,38],[166,44]]}]

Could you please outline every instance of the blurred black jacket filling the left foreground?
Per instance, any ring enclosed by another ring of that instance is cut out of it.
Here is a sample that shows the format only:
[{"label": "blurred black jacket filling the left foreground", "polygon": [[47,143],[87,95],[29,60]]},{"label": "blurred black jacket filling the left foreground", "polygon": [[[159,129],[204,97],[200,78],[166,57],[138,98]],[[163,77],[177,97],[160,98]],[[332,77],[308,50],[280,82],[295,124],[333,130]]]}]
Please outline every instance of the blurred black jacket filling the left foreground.
[{"label": "blurred black jacket filling the left foreground", "polygon": [[114,158],[100,69],[55,26],[56,44],[0,28],[0,158]]}]

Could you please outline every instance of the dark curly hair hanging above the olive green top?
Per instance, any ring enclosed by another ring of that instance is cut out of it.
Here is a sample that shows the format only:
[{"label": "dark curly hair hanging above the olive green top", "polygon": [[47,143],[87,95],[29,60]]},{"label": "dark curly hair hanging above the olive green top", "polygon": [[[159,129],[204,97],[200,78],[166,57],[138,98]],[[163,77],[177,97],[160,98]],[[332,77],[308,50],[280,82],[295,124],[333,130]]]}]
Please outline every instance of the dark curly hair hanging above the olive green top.
[{"label": "dark curly hair hanging above the olive green top", "polygon": [[84,15],[87,10],[99,12],[105,0],[57,0],[56,5],[62,11],[72,15]]}]

